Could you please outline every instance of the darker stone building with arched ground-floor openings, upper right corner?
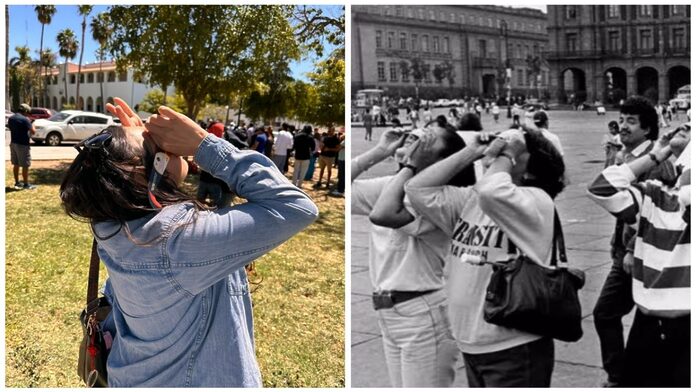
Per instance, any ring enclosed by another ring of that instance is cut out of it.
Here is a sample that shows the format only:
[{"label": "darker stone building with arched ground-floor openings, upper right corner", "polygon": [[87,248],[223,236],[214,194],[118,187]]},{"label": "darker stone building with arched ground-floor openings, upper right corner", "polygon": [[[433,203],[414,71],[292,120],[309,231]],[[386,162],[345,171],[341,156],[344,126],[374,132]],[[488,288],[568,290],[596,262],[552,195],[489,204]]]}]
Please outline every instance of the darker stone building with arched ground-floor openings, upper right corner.
[{"label": "darker stone building with arched ground-floor openings, upper right corner", "polygon": [[553,98],[665,102],[690,84],[689,5],[549,5]]}]

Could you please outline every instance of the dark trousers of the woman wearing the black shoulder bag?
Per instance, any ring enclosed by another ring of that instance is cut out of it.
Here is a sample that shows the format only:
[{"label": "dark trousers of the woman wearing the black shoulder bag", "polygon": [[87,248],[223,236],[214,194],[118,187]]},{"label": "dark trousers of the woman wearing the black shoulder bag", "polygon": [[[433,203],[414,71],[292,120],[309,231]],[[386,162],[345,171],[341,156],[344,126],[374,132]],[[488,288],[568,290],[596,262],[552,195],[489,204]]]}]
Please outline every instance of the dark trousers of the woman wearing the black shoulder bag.
[{"label": "dark trousers of the woman wearing the black shoulder bag", "polygon": [[553,361],[553,339],[548,337],[492,353],[464,353],[469,388],[547,388]]}]

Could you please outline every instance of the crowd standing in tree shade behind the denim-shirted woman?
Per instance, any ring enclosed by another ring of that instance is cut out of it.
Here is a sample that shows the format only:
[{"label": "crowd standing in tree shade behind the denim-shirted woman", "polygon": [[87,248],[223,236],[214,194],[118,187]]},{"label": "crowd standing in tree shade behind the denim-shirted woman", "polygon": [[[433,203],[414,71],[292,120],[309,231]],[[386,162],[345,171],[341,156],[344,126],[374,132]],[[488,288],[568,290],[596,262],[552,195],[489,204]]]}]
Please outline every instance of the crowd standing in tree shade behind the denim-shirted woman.
[{"label": "crowd standing in tree shade behind the denim-shirted woman", "polygon": [[[292,168],[292,183],[302,189],[304,182],[314,182],[312,188],[328,190],[334,197],[343,197],[345,192],[345,132],[337,132],[330,126],[323,131],[318,127],[304,125],[297,129],[294,125],[282,123],[277,130],[270,125],[250,122],[240,124],[210,119],[199,123],[203,129],[225,139],[241,150],[257,151],[270,158],[281,173],[287,175]],[[319,166],[319,178],[315,180],[315,167]],[[332,180],[334,168],[337,174]],[[324,175],[326,173],[326,176]],[[232,191],[224,183],[205,171],[200,171],[198,200],[216,206],[229,205]],[[322,187],[323,184],[323,187]]]}]

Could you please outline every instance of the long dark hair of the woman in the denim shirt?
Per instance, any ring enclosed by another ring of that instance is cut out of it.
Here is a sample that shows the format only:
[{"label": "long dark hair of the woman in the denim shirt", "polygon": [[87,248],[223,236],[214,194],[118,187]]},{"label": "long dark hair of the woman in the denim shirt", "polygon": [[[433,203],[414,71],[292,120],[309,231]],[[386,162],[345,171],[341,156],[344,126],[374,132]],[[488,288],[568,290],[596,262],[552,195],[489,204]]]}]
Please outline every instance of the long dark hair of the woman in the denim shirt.
[{"label": "long dark hair of the woman in the denim shirt", "polygon": [[[113,137],[104,149],[84,149],[68,168],[60,184],[60,199],[71,218],[91,223],[116,221],[121,226],[157,210],[148,200],[148,178],[154,152],[128,141],[121,126],[110,126]],[[208,209],[164,178],[154,191],[163,207],[191,202],[196,210]]]}]

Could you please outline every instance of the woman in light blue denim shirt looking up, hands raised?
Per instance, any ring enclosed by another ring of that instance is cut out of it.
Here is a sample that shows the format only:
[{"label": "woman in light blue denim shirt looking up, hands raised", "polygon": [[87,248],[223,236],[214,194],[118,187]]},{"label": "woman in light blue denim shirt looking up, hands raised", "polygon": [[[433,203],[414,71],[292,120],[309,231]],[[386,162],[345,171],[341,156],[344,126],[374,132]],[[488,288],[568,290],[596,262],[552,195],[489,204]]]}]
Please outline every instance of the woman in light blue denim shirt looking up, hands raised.
[{"label": "woman in light blue denim shirt looking up, hands raised", "polygon": [[[143,124],[115,102],[123,127],[82,142],[60,188],[109,273],[109,386],[260,387],[244,265],[311,224],[317,207],[262,154],[167,107]],[[169,160],[148,194],[159,150]],[[247,202],[211,210],[181,192],[182,156]]]}]

